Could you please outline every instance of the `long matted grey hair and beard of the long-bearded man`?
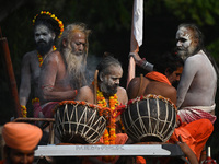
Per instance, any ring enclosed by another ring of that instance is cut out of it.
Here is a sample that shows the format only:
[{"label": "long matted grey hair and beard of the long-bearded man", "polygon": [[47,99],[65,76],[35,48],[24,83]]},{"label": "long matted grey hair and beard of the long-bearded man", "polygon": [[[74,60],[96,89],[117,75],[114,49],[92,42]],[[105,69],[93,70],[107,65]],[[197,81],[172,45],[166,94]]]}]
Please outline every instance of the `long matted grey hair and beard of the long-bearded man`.
[{"label": "long matted grey hair and beard of the long-bearded man", "polygon": [[[85,35],[83,56],[77,56],[72,52],[72,47],[70,46],[73,39],[74,33],[82,33]],[[91,31],[87,28],[83,23],[73,23],[66,26],[60,39],[59,39],[59,50],[67,65],[67,71],[71,79],[70,83],[74,89],[79,89],[87,83],[84,73],[87,66],[87,57],[89,50],[89,35]],[[64,45],[64,40],[67,46]]]}]

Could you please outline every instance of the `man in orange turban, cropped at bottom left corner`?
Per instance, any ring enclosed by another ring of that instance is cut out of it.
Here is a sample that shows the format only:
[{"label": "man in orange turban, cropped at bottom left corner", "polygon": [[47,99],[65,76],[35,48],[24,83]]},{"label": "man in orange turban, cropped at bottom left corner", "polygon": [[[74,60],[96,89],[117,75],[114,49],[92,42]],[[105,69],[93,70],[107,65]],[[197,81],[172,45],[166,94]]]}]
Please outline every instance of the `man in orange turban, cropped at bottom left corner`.
[{"label": "man in orange turban, cropped at bottom left corner", "polygon": [[3,126],[5,160],[0,164],[32,164],[34,150],[42,138],[42,130],[25,122],[8,122]]}]

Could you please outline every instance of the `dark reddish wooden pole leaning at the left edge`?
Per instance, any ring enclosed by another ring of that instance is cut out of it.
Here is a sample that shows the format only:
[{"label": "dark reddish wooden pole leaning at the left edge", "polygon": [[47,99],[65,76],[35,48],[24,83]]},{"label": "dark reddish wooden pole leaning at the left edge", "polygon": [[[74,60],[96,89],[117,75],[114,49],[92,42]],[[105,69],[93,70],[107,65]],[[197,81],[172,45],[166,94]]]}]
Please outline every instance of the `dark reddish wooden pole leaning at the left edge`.
[{"label": "dark reddish wooden pole leaning at the left edge", "polygon": [[0,38],[0,55],[2,56],[3,69],[7,72],[5,73],[7,81],[8,81],[10,93],[11,93],[11,101],[12,101],[12,107],[14,110],[14,117],[15,118],[21,117],[21,105],[19,102],[16,80],[15,80],[14,72],[13,72],[13,66],[11,62],[8,40],[5,37],[2,37],[2,35]]}]

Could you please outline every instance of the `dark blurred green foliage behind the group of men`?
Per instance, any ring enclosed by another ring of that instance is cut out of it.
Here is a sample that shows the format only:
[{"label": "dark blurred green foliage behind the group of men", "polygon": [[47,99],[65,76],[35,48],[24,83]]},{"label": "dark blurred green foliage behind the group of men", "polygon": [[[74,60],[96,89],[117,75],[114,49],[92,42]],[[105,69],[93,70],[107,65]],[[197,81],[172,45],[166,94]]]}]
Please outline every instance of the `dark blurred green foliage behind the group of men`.
[{"label": "dark blurred green foliage behind the group of men", "polygon": [[[205,35],[205,45],[219,63],[219,1],[218,0],[145,0],[143,45],[139,55],[153,62],[175,45],[180,23],[196,23]],[[83,22],[92,30],[89,56],[97,59],[110,51],[122,61],[126,86],[132,1],[127,0],[8,0],[0,1],[0,26],[8,38],[18,87],[20,86],[21,59],[34,49],[32,20],[42,10],[55,13],[64,24]],[[2,56],[2,55],[1,55]],[[89,62],[91,63],[91,62]],[[95,63],[95,62],[94,62]],[[0,65],[0,125],[13,116],[5,71]],[[91,67],[91,66],[89,66]],[[137,68],[137,75],[143,70]],[[205,95],[204,95],[205,96]],[[218,94],[216,98],[218,104]],[[28,103],[30,106],[30,103]],[[27,106],[27,107],[28,107]],[[31,108],[31,107],[28,107]],[[216,115],[218,116],[218,107]],[[31,114],[31,112],[30,112]],[[218,120],[208,140],[215,159],[219,156]]]}]

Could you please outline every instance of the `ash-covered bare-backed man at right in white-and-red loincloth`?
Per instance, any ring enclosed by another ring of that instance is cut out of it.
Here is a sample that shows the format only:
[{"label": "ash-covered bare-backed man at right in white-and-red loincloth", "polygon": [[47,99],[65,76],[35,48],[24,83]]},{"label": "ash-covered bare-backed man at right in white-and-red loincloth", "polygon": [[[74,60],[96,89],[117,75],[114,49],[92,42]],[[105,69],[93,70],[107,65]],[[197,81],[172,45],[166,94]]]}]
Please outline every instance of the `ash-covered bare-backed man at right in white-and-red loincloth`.
[{"label": "ash-covered bare-backed man at right in white-and-red loincloth", "polygon": [[181,24],[176,40],[177,55],[185,60],[177,87],[178,115],[186,122],[207,118],[214,124],[217,73],[205,52],[203,34],[194,24]]}]

